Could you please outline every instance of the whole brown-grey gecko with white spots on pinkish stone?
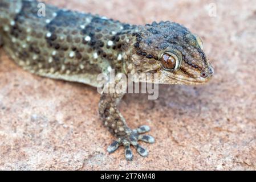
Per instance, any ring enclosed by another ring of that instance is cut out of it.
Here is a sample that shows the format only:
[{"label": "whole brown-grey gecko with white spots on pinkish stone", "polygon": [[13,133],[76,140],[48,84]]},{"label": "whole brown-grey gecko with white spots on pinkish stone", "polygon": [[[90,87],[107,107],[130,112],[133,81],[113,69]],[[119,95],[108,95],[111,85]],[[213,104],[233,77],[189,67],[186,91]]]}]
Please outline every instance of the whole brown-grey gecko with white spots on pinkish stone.
[{"label": "whole brown-grey gecko with white spots on pinkish stone", "polygon": [[[22,68],[36,75],[99,86],[99,73],[157,73],[160,84],[202,84],[213,67],[202,50],[202,40],[173,22],[135,26],[98,15],[46,5],[38,16],[38,2],[0,0],[0,42]],[[118,81],[118,80],[117,80]],[[124,146],[132,160],[131,145],[141,156],[148,151],[139,140],[153,143],[143,133],[148,126],[130,129],[117,109],[124,94],[102,93],[99,114],[117,140],[108,152]]]}]

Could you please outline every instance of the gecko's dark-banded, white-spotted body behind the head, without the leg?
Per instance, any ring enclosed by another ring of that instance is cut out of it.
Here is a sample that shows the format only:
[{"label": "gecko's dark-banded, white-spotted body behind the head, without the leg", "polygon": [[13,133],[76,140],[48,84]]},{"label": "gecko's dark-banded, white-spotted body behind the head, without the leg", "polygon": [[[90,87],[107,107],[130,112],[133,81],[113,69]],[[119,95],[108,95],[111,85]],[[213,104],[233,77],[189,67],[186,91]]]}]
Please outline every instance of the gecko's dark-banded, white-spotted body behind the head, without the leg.
[{"label": "gecko's dark-banded, white-spotted body behind the head, without the leg", "polygon": [[5,51],[37,75],[97,86],[99,73],[123,65],[117,59],[123,53],[121,43],[113,49],[109,42],[123,30],[118,21],[37,1],[0,0],[0,22]]}]

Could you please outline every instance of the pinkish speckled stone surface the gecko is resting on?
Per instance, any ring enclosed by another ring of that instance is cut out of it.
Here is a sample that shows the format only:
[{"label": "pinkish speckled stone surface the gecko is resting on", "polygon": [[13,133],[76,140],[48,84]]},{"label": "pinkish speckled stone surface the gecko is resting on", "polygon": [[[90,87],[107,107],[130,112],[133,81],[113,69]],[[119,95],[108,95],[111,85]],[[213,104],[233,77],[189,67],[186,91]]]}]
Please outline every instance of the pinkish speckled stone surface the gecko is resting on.
[{"label": "pinkish speckled stone surface the gecko is resting on", "polygon": [[149,125],[156,138],[144,144],[148,158],[133,148],[127,162],[123,148],[106,151],[115,138],[100,121],[95,88],[31,75],[0,49],[1,170],[256,169],[255,1],[51,2],[133,24],[184,24],[204,39],[215,75],[201,86],[160,85],[158,100],[127,94],[128,125]]}]

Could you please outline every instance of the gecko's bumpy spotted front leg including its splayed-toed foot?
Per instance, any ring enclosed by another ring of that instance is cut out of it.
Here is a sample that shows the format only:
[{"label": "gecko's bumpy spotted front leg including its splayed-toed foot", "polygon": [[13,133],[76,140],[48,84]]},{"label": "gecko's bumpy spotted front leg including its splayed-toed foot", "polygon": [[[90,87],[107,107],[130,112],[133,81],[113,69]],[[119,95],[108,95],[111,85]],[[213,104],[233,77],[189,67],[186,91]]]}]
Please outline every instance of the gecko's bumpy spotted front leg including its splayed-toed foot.
[{"label": "gecko's bumpy spotted front leg including its splayed-toed foot", "polygon": [[127,126],[123,115],[117,109],[117,105],[123,96],[123,93],[102,93],[99,102],[99,113],[104,125],[117,137],[117,140],[107,148],[108,152],[112,153],[119,146],[124,146],[125,158],[132,160],[131,145],[136,148],[141,156],[147,156],[148,151],[141,147],[138,141],[154,143],[155,139],[151,135],[143,134],[150,130],[149,126],[140,126],[134,130]]}]

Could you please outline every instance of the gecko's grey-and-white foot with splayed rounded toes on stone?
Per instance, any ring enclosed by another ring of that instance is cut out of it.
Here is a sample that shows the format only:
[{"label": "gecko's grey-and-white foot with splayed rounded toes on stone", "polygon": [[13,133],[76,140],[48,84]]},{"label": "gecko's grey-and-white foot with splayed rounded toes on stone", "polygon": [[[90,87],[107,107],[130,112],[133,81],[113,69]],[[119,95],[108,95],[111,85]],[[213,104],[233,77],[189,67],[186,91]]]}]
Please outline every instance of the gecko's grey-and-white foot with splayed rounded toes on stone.
[{"label": "gecko's grey-and-white foot with splayed rounded toes on stone", "polygon": [[135,130],[130,130],[127,135],[119,137],[117,140],[115,140],[107,149],[109,153],[112,153],[117,150],[118,147],[124,146],[125,149],[125,158],[127,160],[132,160],[132,150],[131,145],[136,148],[137,152],[141,156],[147,156],[148,151],[141,147],[138,143],[138,141],[143,141],[147,143],[154,143],[155,139],[151,135],[143,135],[143,133],[146,133],[149,131],[149,126],[141,126]]}]

